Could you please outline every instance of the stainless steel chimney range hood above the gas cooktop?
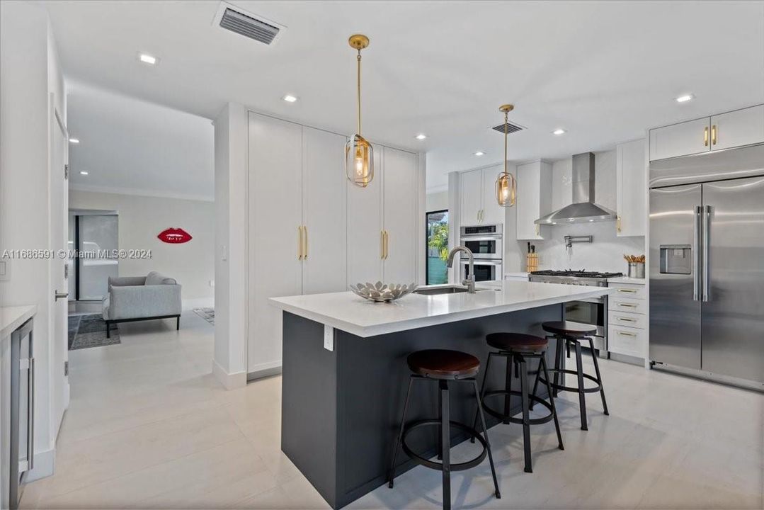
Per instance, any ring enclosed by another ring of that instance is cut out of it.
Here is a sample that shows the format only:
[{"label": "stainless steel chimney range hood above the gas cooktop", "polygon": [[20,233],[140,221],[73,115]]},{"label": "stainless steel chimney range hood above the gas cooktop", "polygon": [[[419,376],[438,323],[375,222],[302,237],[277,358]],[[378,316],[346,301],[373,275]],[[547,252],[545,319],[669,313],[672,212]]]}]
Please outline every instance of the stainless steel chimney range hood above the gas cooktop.
[{"label": "stainless steel chimney range hood above the gas cooktop", "polygon": [[573,156],[573,203],[536,219],[539,225],[613,221],[616,213],[594,203],[594,154]]}]

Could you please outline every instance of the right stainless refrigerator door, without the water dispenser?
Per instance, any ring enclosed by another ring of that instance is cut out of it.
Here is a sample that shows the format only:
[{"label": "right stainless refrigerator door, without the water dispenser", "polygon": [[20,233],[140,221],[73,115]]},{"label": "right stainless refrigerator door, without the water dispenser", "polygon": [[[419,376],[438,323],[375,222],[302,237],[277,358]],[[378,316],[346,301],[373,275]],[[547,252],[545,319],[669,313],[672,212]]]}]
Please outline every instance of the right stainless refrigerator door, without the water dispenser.
[{"label": "right stainless refrigerator door, without the water dispenser", "polygon": [[764,382],[764,177],[703,185],[702,369]]}]

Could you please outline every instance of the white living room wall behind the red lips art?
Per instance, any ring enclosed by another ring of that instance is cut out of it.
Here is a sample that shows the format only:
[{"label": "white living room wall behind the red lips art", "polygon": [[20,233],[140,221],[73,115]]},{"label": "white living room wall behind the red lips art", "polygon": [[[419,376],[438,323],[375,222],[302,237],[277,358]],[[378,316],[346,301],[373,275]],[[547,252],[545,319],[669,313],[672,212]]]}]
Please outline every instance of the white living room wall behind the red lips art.
[{"label": "white living room wall behind the red lips art", "polygon": [[[215,203],[70,189],[70,209],[114,210],[119,216],[119,249],[151,250],[151,258],[121,258],[120,276],[160,271],[183,285],[183,307],[212,306],[215,289]],[[192,238],[180,245],[157,239],[167,228]]]}]

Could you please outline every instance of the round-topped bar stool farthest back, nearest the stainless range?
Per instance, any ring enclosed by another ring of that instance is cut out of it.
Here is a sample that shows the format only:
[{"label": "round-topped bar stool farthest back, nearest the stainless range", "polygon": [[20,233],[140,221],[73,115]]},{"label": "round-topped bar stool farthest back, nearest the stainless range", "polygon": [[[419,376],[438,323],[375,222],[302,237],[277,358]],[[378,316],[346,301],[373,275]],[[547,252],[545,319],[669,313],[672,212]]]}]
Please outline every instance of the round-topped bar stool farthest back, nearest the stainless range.
[{"label": "round-topped bar stool farthest back, nearest the stainless range", "polygon": [[[555,375],[555,380],[552,382],[552,388],[555,391],[555,397],[558,391],[573,391],[578,393],[578,407],[581,408],[581,430],[589,430],[586,418],[586,399],[584,395],[587,393],[600,392],[602,397],[602,408],[605,414],[607,412],[607,401],[605,401],[605,390],[602,385],[602,376],[600,375],[600,365],[597,363],[597,353],[594,352],[594,340],[591,339],[591,335],[597,333],[597,328],[591,326],[591,324],[582,324],[571,322],[570,320],[559,320],[554,322],[545,322],[541,325],[542,329],[547,333],[552,333],[546,338],[557,339],[557,348],[555,350],[555,368],[550,370]],[[581,365],[581,340],[588,340],[589,348],[591,349],[591,359],[594,360],[594,373],[596,376],[584,373],[583,366]],[[575,349],[575,370],[561,369],[562,365],[562,348],[563,343],[568,350],[568,358],[570,357],[571,346]],[[565,374],[575,375],[578,385],[565,386]],[[558,376],[562,379],[562,384],[558,383]],[[584,387],[584,379],[588,379],[595,382],[597,385],[592,388]],[[549,384],[549,375],[541,379],[545,384]],[[539,384],[539,377],[536,376],[536,382],[533,385],[534,391],[536,385]]]}]

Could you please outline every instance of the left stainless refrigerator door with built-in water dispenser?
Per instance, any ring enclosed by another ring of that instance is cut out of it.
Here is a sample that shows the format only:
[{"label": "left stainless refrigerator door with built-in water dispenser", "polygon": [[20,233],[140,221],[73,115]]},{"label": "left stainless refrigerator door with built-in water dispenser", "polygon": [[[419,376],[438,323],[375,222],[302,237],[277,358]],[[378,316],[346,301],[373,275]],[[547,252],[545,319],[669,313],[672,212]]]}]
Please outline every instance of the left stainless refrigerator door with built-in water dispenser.
[{"label": "left stainless refrigerator door with built-in water dispenser", "polygon": [[701,368],[700,206],[700,184],[650,190],[650,359],[690,369]]}]

